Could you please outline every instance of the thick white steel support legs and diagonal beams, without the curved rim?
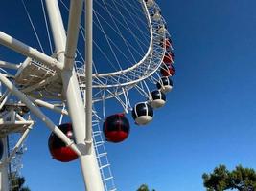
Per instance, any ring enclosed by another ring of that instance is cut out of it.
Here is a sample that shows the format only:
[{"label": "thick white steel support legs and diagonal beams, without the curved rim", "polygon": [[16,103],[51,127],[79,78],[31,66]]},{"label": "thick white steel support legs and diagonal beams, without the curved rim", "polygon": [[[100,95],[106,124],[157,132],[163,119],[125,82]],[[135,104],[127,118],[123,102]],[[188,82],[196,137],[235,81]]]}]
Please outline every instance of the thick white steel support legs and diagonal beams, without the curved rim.
[{"label": "thick white steel support legs and diagonal beams, without the curved rim", "polygon": [[[0,32],[0,43],[2,45],[9,47],[10,49],[18,53],[22,53],[28,57],[34,58],[35,60],[45,65],[49,65],[53,69],[57,70],[59,74],[61,74],[63,82],[63,92],[67,99],[68,112],[73,124],[76,145],[72,140],[67,138],[58,129],[58,127],[50,120],[50,118],[46,117],[38,109],[38,107],[35,106],[32,100],[30,100],[27,96],[20,92],[4,74],[0,74],[0,81],[9,89],[10,92],[12,92],[14,96],[19,98],[23,103],[25,103],[27,107],[31,110],[31,112],[35,114],[36,117],[43,119],[46,125],[79,155],[81,159],[81,171],[86,190],[104,191],[104,185],[101,178],[100,169],[97,163],[95,151],[93,149],[94,147],[91,137],[91,118],[87,120],[87,126],[85,126],[85,111],[83,107],[77,75],[73,68],[81,20],[82,5],[83,0],[71,1],[71,11],[69,16],[68,32],[66,36],[62,23],[62,18],[58,8],[58,1],[46,0],[46,6],[48,9],[52,32],[54,35],[58,59],[47,56],[44,53],[40,53],[37,50],[25,45],[24,43],[12,38],[8,34]],[[86,22],[92,22],[92,0],[86,1],[86,9]],[[92,24],[90,26],[91,29],[87,27],[87,38],[92,38]],[[90,63],[86,64],[86,70],[88,70],[86,78],[88,79],[88,81],[92,81],[91,79],[89,79],[91,78],[91,74],[89,73],[91,73],[92,71],[92,40],[86,41],[86,50],[87,62]],[[5,62],[2,62],[1,64],[11,67],[10,64]],[[86,108],[86,117],[91,117],[91,88],[90,90],[87,90],[87,92],[88,93],[86,93],[86,99],[88,100],[86,101],[86,104],[88,104],[88,107]],[[44,104],[44,106],[48,105],[43,102],[40,103]],[[5,183],[3,183],[3,186],[4,185]],[[4,190],[6,190],[6,188],[4,188]]]}]

